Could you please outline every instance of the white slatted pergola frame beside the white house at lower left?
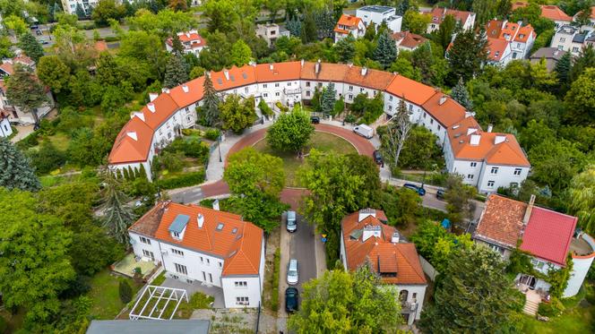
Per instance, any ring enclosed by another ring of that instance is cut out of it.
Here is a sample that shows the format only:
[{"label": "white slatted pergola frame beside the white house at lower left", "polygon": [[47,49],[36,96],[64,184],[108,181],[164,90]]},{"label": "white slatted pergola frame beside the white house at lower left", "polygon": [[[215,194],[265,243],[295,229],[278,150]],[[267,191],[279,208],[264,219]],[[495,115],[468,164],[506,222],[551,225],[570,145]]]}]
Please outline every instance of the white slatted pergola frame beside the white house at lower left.
[{"label": "white slatted pergola frame beside the white house at lower left", "polygon": [[[146,300],[142,305],[139,305],[143,299]],[[188,302],[188,295],[185,289],[174,288],[174,287],[157,287],[147,286],[142,295],[134,303],[133,309],[130,310],[128,316],[130,320],[139,319],[152,319],[152,320],[164,320],[164,312],[168,309],[170,302],[175,303],[174,311],[169,315],[169,320],[174,317],[177,312],[177,307],[185,300]],[[142,307],[142,308],[141,308]],[[140,311],[138,310],[139,308]],[[167,317],[168,314],[165,314]]]}]

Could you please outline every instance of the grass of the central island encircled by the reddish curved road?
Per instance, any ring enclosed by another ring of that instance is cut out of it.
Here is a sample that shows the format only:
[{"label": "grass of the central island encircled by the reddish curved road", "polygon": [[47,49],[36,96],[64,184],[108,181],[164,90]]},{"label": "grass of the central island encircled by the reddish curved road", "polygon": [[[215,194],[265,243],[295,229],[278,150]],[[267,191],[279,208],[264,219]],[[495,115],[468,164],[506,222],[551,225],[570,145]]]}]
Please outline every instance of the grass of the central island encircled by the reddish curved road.
[{"label": "grass of the central island encircled by the reddish curved road", "polygon": [[[297,158],[296,153],[272,150],[265,139],[256,142],[254,144],[254,149],[282,158],[286,174],[285,185],[294,187],[299,186],[297,181],[297,169],[302,165],[302,160]],[[353,147],[353,145],[351,145],[351,143],[349,143],[349,141],[346,141],[341,137],[331,133],[315,132],[310,138],[310,142],[306,145],[305,151],[309,151],[310,149],[316,149],[323,152],[334,151],[339,154],[358,153],[358,151]]]}]

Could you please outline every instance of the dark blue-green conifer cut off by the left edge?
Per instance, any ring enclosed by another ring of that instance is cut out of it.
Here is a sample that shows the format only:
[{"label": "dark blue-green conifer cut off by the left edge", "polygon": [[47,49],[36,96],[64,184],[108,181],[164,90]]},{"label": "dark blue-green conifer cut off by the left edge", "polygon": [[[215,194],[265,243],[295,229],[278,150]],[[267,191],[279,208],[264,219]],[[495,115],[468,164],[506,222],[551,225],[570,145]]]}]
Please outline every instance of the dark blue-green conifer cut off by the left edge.
[{"label": "dark blue-green conifer cut off by the left edge", "polygon": [[28,192],[41,189],[29,158],[4,137],[0,137],[0,157],[0,187]]}]

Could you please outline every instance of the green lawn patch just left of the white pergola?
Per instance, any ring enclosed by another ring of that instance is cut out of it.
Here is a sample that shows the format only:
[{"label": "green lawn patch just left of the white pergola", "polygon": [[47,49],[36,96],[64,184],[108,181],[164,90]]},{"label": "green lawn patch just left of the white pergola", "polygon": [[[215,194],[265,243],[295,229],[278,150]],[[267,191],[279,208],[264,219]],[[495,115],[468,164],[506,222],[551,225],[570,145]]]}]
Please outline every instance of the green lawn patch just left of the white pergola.
[{"label": "green lawn patch just left of the white pergola", "polygon": [[[114,319],[117,313],[124,308],[125,304],[120,300],[118,292],[119,278],[111,276],[108,269],[99,271],[91,278],[91,316],[93,319],[107,320]],[[133,287],[133,295],[142,287],[134,283],[131,278],[127,279],[130,286]]]}]

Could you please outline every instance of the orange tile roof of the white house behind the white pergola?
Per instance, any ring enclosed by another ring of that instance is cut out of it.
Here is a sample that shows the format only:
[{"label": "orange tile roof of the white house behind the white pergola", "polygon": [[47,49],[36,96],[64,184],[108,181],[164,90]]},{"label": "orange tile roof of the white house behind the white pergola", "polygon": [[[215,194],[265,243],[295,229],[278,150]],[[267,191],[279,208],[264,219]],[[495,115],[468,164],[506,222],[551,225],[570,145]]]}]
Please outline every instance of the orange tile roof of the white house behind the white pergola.
[{"label": "orange tile roof of the white house behind the white pergola", "polygon": [[[203,208],[197,205],[183,205],[174,202],[158,203],[163,210],[159,227],[154,237],[168,244],[210,254],[223,259],[222,276],[258,275],[260,272],[263,250],[263,229],[243,221],[233,213]],[[198,214],[203,214],[203,227],[198,227]],[[190,220],[185,226],[182,240],[174,239],[169,233],[169,226],[177,215],[187,215]],[[146,219],[145,219],[146,220]],[[142,227],[139,224],[151,224],[140,219],[131,230]],[[221,230],[217,226],[223,224]]]}]

